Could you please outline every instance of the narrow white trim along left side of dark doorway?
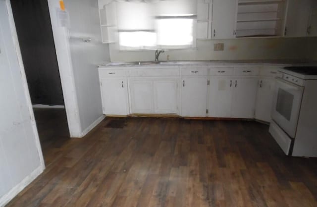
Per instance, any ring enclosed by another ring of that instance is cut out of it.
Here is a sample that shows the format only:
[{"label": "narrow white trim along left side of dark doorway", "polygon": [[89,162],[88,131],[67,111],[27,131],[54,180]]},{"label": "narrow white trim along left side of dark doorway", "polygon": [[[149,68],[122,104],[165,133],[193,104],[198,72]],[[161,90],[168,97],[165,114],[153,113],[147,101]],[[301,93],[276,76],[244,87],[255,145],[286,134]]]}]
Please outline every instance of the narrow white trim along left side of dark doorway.
[{"label": "narrow white trim along left side of dark doorway", "polygon": [[17,56],[18,63],[19,63],[19,68],[20,68],[20,73],[21,73],[21,80],[22,80],[22,84],[23,84],[23,88],[24,88],[24,94],[25,94],[25,98],[26,98],[26,103],[27,103],[27,106],[28,106],[28,109],[29,109],[29,112],[30,112],[30,118],[31,118],[31,123],[32,123],[32,127],[33,127],[34,138],[35,138],[35,144],[36,144],[36,148],[37,148],[38,155],[39,155],[39,158],[40,158],[40,164],[41,164],[41,166],[43,166],[45,168],[45,163],[44,163],[44,158],[43,158],[40,138],[39,138],[36,122],[35,122],[35,117],[34,117],[32,103],[31,103],[31,98],[30,98],[30,92],[29,92],[29,88],[28,88],[28,84],[27,84],[27,80],[26,80],[26,75],[25,75],[25,71],[24,71],[24,65],[23,65],[23,60],[22,60],[22,54],[21,54],[21,51],[20,51],[19,40],[18,40],[18,36],[17,36],[17,33],[16,33],[16,28],[15,28],[13,13],[12,13],[12,7],[11,7],[10,0],[5,0],[5,2],[6,2],[7,11],[8,11],[8,19],[9,19],[9,24],[10,24],[10,30],[11,30],[11,34],[12,34],[13,44],[15,46],[16,56]]}]

